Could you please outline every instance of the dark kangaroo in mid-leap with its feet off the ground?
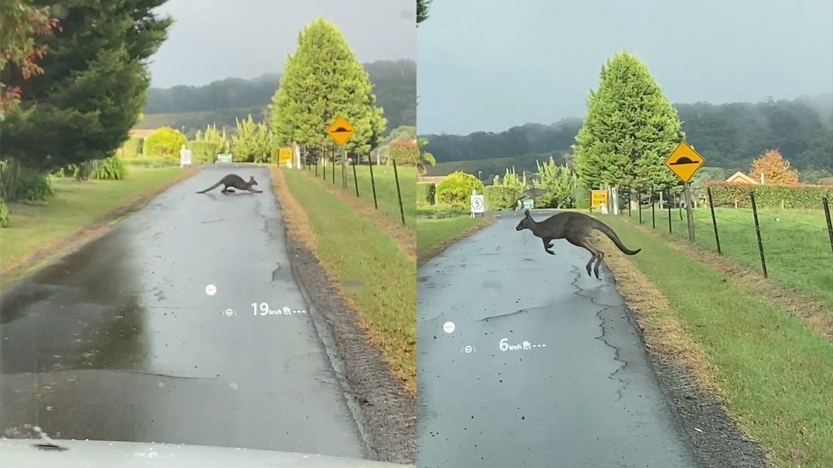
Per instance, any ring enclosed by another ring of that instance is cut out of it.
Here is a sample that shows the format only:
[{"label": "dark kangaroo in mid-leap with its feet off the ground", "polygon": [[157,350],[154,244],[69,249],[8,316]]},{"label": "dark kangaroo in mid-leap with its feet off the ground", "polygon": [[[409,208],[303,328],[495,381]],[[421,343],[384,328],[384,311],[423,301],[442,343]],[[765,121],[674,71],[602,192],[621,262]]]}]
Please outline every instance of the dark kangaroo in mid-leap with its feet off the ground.
[{"label": "dark kangaroo in mid-leap with its feet off the ground", "polygon": [[[529,215],[529,210],[526,210],[523,219],[521,219],[521,222],[518,223],[515,229],[517,231],[529,229],[532,234],[541,237],[544,241],[544,250],[546,253],[552,255],[556,255],[556,252],[550,250],[552,248],[552,241],[555,239],[566,239],[572,245],[589,251],[592,256],[586,265],[587,276],[591,276],[590,267],[593,266],[593,273],[596,274],[596,279],[600,279],[599,263],[601,263],[601,259],[605,257],[605,254],[596,248],[591,241],[594,229],[598,229],[610,237],[611,241],[619,247],[619,250],[625,252],[627,255],[636,255],[642,250],[629,250],[619,240],[619,236],[616,236],[616,232],[613,232],[605,223],[597,220],[595,217],[578,212],[561,212],[546,218],[542,222],[536,222]],[[592,265],[594,260],[596,261],[596,265]]]}]

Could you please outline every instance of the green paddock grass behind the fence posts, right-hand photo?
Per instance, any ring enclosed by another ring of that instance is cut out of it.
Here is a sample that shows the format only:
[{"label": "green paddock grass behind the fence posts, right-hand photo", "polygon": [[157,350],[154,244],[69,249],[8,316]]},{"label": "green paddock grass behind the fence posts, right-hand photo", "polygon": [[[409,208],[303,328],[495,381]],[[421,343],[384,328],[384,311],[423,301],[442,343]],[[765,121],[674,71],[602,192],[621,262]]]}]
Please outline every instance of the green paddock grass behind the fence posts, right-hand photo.
[{"label": "green paddock grass behind the fence posts, right-hand photo", "polygon": [[[678,209],[671,209],[671,232],[687,239],[685,210],[680,217]],[[715,208],[715,217],[723,255],[762,271],[751,209]],[[631,219],[639,222],[638,212],[631,211]],[[770,278],[833,308],[833,251],[824,212],[766,209],[758,211],[758,221]],[[643,208],[642,222],[651,227],[651,207]],[[695,241],[716,250],[707,207],[694,210],[694,225]],[[656,229],[668,232],[668,210],[656,211]]]}]

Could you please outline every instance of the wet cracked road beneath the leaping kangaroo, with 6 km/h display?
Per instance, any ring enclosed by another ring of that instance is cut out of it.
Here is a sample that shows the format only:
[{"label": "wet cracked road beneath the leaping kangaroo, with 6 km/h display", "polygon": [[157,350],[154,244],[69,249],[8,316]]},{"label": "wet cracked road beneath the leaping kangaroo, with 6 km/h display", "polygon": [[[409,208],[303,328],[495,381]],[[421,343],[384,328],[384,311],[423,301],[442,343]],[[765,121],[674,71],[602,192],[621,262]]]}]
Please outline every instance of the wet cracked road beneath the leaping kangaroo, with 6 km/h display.
[{"label": "wet cracked road beneath the leaping kangaroo, with 6 km/h display", "polygon": [[695,466],[610,272],[520,216],[417,271],[420,466]]}]

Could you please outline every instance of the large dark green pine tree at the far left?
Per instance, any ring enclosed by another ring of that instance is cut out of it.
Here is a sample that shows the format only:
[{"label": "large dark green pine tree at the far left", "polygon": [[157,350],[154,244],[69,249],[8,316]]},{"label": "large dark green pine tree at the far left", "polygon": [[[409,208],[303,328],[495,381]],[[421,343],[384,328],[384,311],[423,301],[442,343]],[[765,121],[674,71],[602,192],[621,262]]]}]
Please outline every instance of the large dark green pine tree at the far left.
[{"label": "large dark green pine tree at the far left", "polygon": [[[3,155],[50,169],[107,157],[137,122],[150,82],[146,60],[171,24],[154,12],[165,0],[53,4],[60,28],[36,37],[46,47],[43,73],[24,81],[17,108],[0,122]],[[38,2],[40,3],[40,2]]]}]

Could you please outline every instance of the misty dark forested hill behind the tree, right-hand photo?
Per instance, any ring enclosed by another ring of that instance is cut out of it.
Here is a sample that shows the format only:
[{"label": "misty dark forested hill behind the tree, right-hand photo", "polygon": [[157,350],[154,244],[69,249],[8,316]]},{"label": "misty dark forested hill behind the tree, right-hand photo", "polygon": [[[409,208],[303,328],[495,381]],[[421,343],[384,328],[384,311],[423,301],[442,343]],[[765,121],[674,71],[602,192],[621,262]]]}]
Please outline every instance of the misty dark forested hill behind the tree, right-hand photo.
[{"label": "misty dark forested hill behind the tree, right-hand photo", "polygon": [[[728,104],[675,104],[686,141],[706,158],[706,166],[748,172],[751,160],[777,147],[794,167],[833,172],[833,95],[802,96],[795,100]],[[465,167],[483,177],[502,175],[504,168],[535,171],[536,157],[553,155],[563,162],[581,127],[581,119],[551,125],[527,123],[506,132],[422,135],[425,151],[436,157],[429,174]]]}]

